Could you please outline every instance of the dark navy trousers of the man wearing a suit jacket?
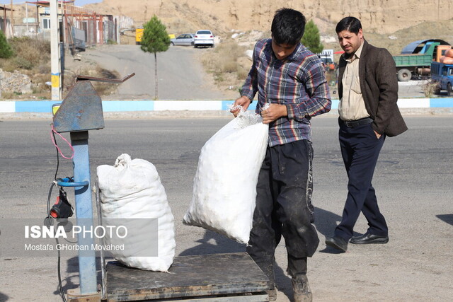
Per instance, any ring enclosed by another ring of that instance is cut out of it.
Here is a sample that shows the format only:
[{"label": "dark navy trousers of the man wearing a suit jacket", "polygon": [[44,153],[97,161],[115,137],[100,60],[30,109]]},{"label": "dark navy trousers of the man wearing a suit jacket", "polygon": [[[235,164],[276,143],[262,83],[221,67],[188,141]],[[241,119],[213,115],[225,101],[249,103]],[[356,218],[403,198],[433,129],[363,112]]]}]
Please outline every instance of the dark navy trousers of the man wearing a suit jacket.
[{"label": "dark navy trousers of the man wearing a suit jacket", "polygon": [[374,168],[384,145],[385,134],[377,139],[372,124],[348,128],[343,121],[339,120],[338,123],[341,155],[348,173],[348,197],[335,235],[349,240],[355,222],[362,212],[368,221],[369,233],[387,236],[389,230],[384,216],[379,211],[372,186]]}]

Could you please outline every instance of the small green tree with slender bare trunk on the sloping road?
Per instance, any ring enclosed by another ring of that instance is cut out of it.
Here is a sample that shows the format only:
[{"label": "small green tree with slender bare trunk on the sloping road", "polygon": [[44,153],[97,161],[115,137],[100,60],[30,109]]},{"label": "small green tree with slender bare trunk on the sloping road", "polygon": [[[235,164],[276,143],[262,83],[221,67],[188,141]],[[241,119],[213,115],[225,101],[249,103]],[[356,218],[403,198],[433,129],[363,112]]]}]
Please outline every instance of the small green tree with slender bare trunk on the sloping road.
[{"label": "small green tree with slender bare trunk on the sloping road", "polygon": [[143,27],[143,36],[140,48],[144,52],[152,52],[154,54],[154,80],[156,89],[154,91],[154,99],[157,100],[157,53],[166,52],[170,46],[170,37],[164,24],[159,18],[154,15]]}]

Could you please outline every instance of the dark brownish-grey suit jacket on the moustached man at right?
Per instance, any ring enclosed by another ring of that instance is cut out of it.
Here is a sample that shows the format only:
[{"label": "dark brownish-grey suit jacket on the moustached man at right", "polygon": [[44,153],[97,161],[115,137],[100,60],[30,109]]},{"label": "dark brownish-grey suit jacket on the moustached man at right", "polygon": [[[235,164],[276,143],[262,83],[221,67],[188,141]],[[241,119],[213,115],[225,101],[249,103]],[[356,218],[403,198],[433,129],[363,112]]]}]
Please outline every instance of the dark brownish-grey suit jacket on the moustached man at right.
[{"label": "dark brownish-grey suit jacket on the moustached man at right", "polygon": [[[343,97],[343,73],[347,62],[345,54],[340,57],[338,94]],[[408,127],[396,105],[398,100],[398,79],[393,57],[385,48],[370,45],[366,40],[359,61],[360,88],[365,108],[374,120],[372,127],[379,134],[394,137]]]}]

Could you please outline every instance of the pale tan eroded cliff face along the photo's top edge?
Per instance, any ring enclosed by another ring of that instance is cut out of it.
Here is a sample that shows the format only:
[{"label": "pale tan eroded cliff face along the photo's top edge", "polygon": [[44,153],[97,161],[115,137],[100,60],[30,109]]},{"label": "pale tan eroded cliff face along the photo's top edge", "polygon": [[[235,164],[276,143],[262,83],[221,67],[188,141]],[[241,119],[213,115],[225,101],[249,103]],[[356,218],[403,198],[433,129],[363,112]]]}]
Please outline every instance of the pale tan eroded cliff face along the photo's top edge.
[{"label": "pale tan eroded cliff face along the photo's top edge", "polygon": [[273,14],[282,7],[319,20],[325,24],[319,26],[321,33],[332,35],[332,25],[345,16],[360,18],[366,31],[385,34],[453,16],[452,0],[103,0],[86,7],[132,17],[136,26],[156,14],[171,30],[211,28],[219,34],[233,29],[269,30]]}]

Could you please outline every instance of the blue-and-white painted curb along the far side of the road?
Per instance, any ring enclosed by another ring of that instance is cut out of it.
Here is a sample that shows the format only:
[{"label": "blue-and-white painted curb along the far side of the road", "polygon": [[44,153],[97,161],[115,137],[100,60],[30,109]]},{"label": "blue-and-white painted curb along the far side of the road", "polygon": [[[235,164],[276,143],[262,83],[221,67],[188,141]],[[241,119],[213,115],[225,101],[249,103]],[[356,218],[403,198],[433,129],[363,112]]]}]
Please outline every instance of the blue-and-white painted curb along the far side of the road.
[{"label": "blue-and-white painted curb along the far side of the road", "polygon": [[[0,118],[6,120],[51,119],[55,100],[8,100],[0,102]],[[106,119],[230,117],[234,100],[103,100]],[[328,115],[337,115],[338,99],[332,100]],[[443,115],[453,113],[453,98],[401,98],[403,114]],[[256,101],[249,110],[255,110]]]}]

